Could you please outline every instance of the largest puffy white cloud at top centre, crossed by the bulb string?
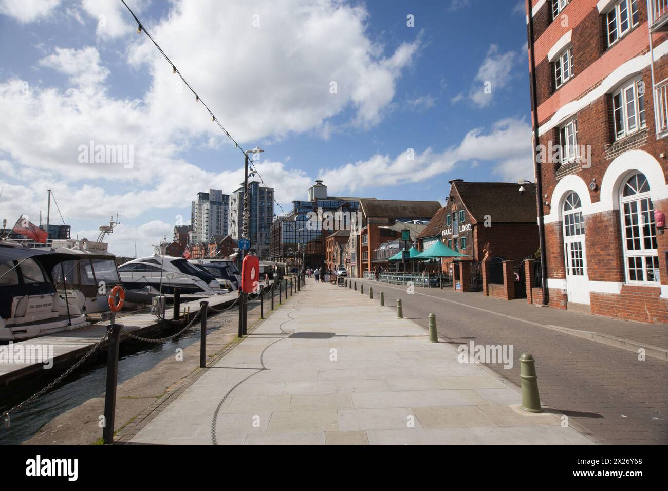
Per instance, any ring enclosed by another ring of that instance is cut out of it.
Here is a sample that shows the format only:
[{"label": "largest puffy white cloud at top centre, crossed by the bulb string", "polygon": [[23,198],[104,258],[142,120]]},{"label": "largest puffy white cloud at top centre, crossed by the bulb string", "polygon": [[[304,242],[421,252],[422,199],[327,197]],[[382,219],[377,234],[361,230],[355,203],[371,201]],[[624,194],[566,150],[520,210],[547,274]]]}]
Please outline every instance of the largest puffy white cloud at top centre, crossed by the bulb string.
[{"label": "largest puffy white cloud at top centre, crossed by the bulb string", "polygon": [[[202,0],[175,3],[150,32],[226,128],[255,141],[320,130],[347,109],[361,128],[383,118],[420,41],[386,56],[367,37],[367,17],[363,7],[335,0]],[[146,101],[156,117],[215,132],[204,109],[193,109],[192,94],[176,92],[178,77],[152,43],[137,39],[130,61],[154,75]]]}]

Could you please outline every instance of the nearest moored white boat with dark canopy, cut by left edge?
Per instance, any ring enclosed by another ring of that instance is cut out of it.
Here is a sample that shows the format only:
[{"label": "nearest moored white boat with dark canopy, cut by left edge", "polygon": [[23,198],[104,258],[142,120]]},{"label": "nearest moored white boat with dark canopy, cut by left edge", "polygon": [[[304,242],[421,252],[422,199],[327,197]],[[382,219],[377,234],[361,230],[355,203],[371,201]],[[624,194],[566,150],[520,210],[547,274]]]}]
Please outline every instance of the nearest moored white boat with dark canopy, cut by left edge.
[{"label": "nearest moored white boat with dark canopy, cut by left edge", "polygon": [[46,248],[0,244],[0,341],[90,325],[73,298],[61,297],[49,271],[67,256]]}]

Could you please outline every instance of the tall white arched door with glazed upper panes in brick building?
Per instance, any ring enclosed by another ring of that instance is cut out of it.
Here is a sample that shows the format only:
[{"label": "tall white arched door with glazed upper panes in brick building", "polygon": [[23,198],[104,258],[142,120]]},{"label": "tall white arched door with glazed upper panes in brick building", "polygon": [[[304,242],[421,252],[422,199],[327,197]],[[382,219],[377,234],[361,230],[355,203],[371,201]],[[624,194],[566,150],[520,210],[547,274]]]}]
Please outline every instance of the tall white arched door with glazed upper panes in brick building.
[{"label": "tall white arched door with glazed upper panes in brick building", "polygon": [[572,192],[564,201],[564,259],[568,301],[589,304],[589,275],[585,248],[585,220],[580,197]]}]

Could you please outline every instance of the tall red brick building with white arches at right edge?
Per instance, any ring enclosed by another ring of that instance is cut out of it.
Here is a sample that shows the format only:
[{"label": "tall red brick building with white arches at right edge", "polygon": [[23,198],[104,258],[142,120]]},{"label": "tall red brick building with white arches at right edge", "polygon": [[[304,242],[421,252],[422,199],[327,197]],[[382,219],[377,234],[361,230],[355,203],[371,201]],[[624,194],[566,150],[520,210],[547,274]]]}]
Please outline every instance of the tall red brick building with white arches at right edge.
[{"label": "tall red brick building with white arches at right edge", "polygon": [[530,4],[549,305],[668,322],[668,0]]}]

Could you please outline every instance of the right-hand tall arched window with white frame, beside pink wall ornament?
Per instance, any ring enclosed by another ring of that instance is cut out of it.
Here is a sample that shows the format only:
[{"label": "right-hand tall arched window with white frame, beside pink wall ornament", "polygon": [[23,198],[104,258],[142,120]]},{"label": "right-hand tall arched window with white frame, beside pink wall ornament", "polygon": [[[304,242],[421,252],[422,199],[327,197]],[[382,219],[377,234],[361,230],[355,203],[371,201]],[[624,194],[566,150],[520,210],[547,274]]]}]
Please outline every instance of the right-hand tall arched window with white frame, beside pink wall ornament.
[{"label": "right-hand tall arched window with white frame, beside pink wall ornament", "polygon": [[619,196],[627,282],[659,283],[659,255],[649,182],[637,172],[627,178]]}]

